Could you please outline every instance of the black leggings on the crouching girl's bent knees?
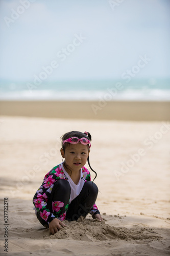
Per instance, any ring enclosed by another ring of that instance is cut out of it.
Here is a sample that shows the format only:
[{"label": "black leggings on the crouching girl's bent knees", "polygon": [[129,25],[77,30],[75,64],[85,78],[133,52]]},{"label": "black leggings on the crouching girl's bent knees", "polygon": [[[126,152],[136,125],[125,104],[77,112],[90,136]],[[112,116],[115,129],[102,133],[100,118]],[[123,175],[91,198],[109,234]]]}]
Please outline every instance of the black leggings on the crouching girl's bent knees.
[{"label": "black leggings on the crouching girl's bent knees", "polygon": [[[47,208],[50,209],[51,212],[53,212],[52,202],[61,201],[64,203],[64,206],[60,208],[61,210],[60,215],[64,214],[65,206],[69,202],[70,191],[71,191],[71,188],[67,180],[60,179],[56,181],[54,183],[51,196],[47,202]],[[85,182],[79,196],[77,196],[69,204],[65,219],[67,221],[75,221],[75,220],[77,221],[80,216],[87,216],[87,214],[93,207],[97,196],[98,196],[98,187],[95,185],[95,183],[91,181]],[[98,211],[98,213],[100,212]],[[55,215],[54,212],[53,214]],[[43,226],[48,227],[48,223],[40,217],[38,212],[37,212],[37,218]]]}]

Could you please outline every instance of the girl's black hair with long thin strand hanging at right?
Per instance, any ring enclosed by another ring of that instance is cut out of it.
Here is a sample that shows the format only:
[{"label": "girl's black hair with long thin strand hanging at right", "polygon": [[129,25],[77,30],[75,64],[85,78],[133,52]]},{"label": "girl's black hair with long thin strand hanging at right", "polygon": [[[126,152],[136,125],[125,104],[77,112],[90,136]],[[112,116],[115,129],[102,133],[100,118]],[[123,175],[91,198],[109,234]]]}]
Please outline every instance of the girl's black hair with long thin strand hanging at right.
[{"label": "girl's black hair with long thin strand hanging at right", "polygon": [[[88,134],[88,135],[87,135],[87,134]],[[64,153],[65,153],[65,148],[66,148],[67,145],[69,144],[69,142],[66,142],[66,143],[63,144],[63,141],[64,141],[64,140],[69,139],[69,138],[71,138],[71,137],[78,137],[79,139],[85,137],[85,138],[87,138],[89,141],[91,141],[91,134],[90,134],[90,133],[87,133],[87,134],[86,134],[86,133],[81,133],[81,132],[78,132],[78,131],[72,131],[72,132],[65,133],[65,134],[61,137],[61,140],[62,140],[62,148],[63,148]],[[88,146],[88,149],[89,149],[89,145],[87,145],[87,146]],[[95,173],[95,177],[94,177],[94,179],[93,179],[93,181],[94,181],[95,178],[97,177],[97,174],[96,174],[95,170],[93,170],[93,169],[91,168],[89,156],[88,156],[88,158],[87,158],[87,162],[88,162],[88,165],[89,165],[90,169],[92,170],[92,172]],[[92,181],[92,182],[93,182],[93,181]]]}]

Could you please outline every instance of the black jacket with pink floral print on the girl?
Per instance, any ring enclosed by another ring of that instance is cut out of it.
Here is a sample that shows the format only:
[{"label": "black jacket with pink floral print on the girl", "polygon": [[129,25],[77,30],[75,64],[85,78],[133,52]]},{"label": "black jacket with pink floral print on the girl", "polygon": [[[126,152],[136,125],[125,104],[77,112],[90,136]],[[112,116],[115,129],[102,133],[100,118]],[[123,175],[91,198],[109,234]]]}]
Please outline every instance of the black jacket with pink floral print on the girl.
[{"label": "black jacket with pink floral print on the girl", "polygon": [[[33,198],[33,204],[34,204],[34,209],[35,211],[38,212],[38,214],[40,214],[41,218],[43,220],[45,220],[48,224],[56,218],[56,216],[50,212],[50,210],[46,207],[47,206],[47,201],[48,198],[50,198],[50,195],[52,193],[52,189],[54,186],[54,183],[59,180],[59,179],[64,179],[64,180],[68,180],[68,178],[65,176],[63,169],[62,169],[62,165],[59,164],[55,167],[53,167],[52,170],[50,170],[50,172],[48,172],[43,180],[42,185],[38,188],[38,190],[36,191],[36,194],[34,195]],[[82,179],[84,179],[85,182],[90,181],[90,172],[88,171],[88,169],[86,167],[82,167]],[[61,205],[63,206],[63,205]],[[60,205],[58,205],[58,207],[60,207]],[[68,205],[67,205],[68,208]],[[62,216],[57,218],[61,221],[65,220],[65,215],[66,215],[66,210]],[[96,204],[93,205],[90,214],[92,214],[93,212],[99,212],[98,207],[96,206]]]}]

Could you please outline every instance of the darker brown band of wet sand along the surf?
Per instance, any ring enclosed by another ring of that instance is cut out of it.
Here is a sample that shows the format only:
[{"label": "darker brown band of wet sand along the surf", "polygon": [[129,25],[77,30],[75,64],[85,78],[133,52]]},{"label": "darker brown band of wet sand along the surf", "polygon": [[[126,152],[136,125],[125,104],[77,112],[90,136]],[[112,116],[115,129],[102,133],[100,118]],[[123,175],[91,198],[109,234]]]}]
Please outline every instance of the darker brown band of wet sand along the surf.
[{"label": "darker brown band of wet sand along the surf", "polygon": [[1,101],[0,115],[92,120],[170,120],[170,101]]}]

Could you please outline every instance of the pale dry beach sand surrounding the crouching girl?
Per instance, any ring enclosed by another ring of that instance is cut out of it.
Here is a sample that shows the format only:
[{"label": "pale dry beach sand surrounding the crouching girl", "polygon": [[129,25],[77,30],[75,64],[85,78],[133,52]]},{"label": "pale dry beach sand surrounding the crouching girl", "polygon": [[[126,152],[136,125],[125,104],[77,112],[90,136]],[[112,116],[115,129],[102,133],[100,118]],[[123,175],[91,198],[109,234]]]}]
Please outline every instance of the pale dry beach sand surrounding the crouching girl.
[{"label": "pale dry beach sand surrounding the crouching girl", "polygon": [[[0,130],[1,255],[170,254],[167,119],[1,116]],[[78,222],[65,221],[67,226],[53,236],[38,222],[32,198],[48,170],[61,162],[59,137],[71,130],[92,135],[90,163],[98,173],[96,204],[104,222],[90,215]],[[9,225],[4,223],[4,198]],[[8,253],[3,247],[5,235]]]}]

